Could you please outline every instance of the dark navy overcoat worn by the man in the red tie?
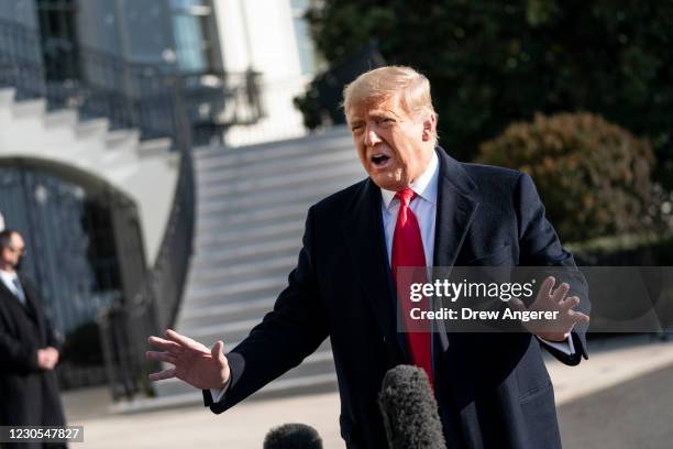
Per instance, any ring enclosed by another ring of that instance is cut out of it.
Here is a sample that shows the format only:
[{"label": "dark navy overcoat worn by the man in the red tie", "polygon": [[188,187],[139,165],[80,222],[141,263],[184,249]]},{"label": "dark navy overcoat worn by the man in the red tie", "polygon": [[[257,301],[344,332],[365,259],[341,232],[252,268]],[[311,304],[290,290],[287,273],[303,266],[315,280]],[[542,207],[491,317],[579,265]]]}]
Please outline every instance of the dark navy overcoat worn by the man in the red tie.
[{"label": "dark navy overcoat worn by the man in the red tie", "polygon": [[[574,266],[544,219],[529,176],[438,153],[434,266]],[[228,354],[232,377],[223,401],[210,404],[205,394],[214,413],[298,365],[329,336],[347,447],[386,447],[377,393],[385,372],[409,358],[395,327],[380,205],[379,188],[365,179],[310,208],[288,287]],[[575,292],[586,298],[583,278],[574,281]],[[573,332],[574,357],[554,354],[578,363],[586,357],[584,331]],[[433,348],[437,396],[451,448],[560,447],[553,390],[537,338],[439,332]]]}]

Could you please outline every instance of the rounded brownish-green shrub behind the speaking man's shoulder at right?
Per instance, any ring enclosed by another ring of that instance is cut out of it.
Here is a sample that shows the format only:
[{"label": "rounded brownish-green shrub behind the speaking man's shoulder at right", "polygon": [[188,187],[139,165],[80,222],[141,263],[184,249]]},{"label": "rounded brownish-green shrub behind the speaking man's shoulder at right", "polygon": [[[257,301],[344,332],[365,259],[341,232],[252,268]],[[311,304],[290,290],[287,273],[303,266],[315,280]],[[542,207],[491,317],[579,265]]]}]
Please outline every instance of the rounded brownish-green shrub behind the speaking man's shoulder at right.
[{"label": "rounded brownish-green shrub behind the speaking man's shoulder at right", "polygon": [[591,113],[536,114],[481,145],[479,163],[528,173],[566,241],[651,225],[650,143]]}]

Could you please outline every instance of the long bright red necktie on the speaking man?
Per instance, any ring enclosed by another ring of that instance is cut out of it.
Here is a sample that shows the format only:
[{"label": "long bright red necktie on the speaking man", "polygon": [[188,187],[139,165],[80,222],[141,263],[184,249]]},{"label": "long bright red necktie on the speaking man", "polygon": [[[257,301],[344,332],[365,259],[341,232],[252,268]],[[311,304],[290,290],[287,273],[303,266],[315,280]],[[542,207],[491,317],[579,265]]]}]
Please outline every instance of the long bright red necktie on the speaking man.
[{"label": "long bright red necktie on the speaking man", "polygon": [[[412,303],[409,299],[410,284],[427,282],[423,241],[418,220],[409,208],[409,205],[416,198],[416,193],[410,188],[405,188],[398,191],[395,197],[399,199],[399,212],[397,213],[395,234],[393,237],[391,269],[397,285],[397,297],[400,303],[402,324],[407,330],[407,347],[411,353],[413,364],[426,370],[430,379],[430,385],[433,385],[429,325],[427,320],[415,321],[410,317],[410,310],[415,307],[428,309],[427,299],[422,299],[420,303]],[[420,269],[402,270],[398,273],[398,269],[406,267]],[[409,329],[413,331],[409,331]]]}]

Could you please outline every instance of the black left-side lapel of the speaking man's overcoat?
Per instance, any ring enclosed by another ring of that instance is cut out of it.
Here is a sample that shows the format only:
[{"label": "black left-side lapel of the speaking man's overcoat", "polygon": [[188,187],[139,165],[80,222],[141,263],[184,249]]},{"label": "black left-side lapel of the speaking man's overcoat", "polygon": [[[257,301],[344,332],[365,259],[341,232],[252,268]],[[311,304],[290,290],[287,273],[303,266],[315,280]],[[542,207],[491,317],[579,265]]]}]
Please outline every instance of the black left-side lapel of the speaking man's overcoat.
[{"label": "black left-side lapel of the speaking man's overcoat", "polygon": [[371,180],[363,183],[354,202],[342,221],[345,241],[357,266],[365,296],[374,311],[386,343],[399,354],[395,309],[393,307],[393,277],[386,251],[380,211],[380,190]]}]

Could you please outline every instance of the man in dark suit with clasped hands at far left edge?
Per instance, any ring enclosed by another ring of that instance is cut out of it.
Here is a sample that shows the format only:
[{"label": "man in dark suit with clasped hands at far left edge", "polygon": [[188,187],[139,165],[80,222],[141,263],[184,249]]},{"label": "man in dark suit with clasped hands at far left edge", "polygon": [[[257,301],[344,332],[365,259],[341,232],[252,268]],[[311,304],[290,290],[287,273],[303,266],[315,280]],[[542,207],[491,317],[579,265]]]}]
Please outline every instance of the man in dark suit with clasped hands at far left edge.
[{"label": "man in dark suit with clasped hands at far left edge", "polygon": [[0,426],[64,426],[53,371],[58,363],[58,342],[37,291],[16,273],[24,251],[19,232],[0,232]]}]

